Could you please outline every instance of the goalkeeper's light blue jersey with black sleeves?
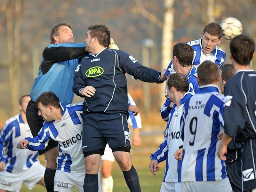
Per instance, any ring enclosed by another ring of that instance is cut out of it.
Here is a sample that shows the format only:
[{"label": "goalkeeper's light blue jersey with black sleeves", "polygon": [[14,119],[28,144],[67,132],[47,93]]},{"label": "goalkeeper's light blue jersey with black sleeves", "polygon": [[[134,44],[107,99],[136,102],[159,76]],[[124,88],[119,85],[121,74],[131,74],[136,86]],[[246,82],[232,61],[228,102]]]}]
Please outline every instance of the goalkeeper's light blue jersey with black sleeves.
[{"label": "goalkeeper's light blue jersey with black sleeves", "polygon": [[36,101],[41,93],[52,91],[62,105],[70,104],[74,98],[74,70],[79,58],[86,54],[88,53],[85,52],[85,43],[49,44],[45,47],[38,76],[31,89],[31,100]]}]

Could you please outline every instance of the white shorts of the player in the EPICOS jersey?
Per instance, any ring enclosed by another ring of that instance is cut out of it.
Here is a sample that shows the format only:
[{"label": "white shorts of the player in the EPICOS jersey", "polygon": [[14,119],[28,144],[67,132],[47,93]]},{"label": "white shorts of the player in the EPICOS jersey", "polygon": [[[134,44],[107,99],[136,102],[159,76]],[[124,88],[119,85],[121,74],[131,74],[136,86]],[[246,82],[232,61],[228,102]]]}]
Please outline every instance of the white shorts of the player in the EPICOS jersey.
[{"label": "white shorts of the player in the EPICOS jersey", "polygon": [[[69,173],[56,170],[54,176],[54,191],[68,192],[73,191],[76,186],[79,192],[84,191],[84,176],[85,173]],[[98,173],[99,191],[100,185],[100,172]]]}]

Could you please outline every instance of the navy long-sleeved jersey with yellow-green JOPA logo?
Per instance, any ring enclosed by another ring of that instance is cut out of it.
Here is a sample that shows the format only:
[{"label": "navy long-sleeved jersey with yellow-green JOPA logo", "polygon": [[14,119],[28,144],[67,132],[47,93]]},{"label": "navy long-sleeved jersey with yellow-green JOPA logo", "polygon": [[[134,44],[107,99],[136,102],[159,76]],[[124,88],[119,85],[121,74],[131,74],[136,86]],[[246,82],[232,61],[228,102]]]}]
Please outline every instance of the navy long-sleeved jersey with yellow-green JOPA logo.
[{"label": "navy long-sleeved jersey with yellow-green JOPA logo", "polygon": [[103,49],[97,55],[81,60],[75,70],[73,91],[76,95],[85,86],[96,89],[92,97],[85,97],[86,112],[128,113],[127,81],[125,73],[144,82],[162,83],[160,72],[142,66],[130,54],[114,49]]}]

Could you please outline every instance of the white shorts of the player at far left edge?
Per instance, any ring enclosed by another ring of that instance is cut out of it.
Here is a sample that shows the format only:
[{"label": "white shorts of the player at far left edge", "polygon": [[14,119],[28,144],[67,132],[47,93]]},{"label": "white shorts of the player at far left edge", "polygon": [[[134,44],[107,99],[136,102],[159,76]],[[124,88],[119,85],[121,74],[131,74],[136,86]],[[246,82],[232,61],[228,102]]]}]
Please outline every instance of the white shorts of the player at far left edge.
[{"label": "white shorts of the player at far left edge", "polygon": [[44,177],[45,167],[39,161],[21,173],[0,172],[0,189],[19,192],[24,183],[30,190]]}]

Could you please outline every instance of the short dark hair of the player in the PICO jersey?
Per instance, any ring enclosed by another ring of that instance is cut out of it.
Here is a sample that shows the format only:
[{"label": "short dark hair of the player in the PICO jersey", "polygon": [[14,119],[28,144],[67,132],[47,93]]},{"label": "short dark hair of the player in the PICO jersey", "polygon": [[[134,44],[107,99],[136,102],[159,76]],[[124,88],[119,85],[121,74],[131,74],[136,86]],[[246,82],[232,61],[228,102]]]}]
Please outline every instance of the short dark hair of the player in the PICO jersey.
[{"label": "short dark hair of the player in the PICO jersey", "polygon": [[174,73],[167,79],[168,89],[175,87],[177,91],[188,92],[188,78],[181,73]]}]

